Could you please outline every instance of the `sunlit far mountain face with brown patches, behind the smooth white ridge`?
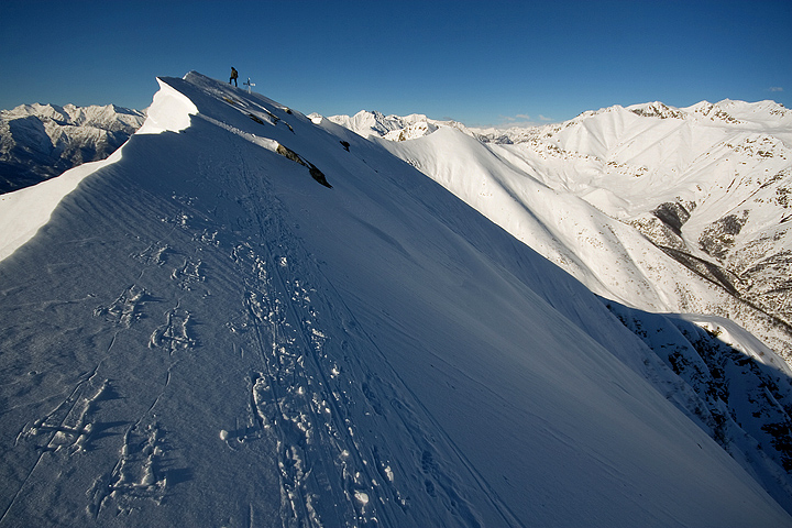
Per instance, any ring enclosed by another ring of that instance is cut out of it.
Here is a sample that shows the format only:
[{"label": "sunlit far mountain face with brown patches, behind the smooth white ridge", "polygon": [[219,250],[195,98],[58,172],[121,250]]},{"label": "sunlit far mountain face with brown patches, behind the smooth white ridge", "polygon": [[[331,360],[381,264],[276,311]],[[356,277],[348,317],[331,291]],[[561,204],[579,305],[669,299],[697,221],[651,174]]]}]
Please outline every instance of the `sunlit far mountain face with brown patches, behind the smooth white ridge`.
[{"label": "sunlit far mountain face with brown patches, behind the smooth white ridge", "polygon": [[[792,341],[792,112],[771,101],[651,103],[556,129],[535,143],[495,148],[546,185],[635,227],[776,319],[781,342]],[[546,146],[558,148],[553,157],[543,156]]]}]

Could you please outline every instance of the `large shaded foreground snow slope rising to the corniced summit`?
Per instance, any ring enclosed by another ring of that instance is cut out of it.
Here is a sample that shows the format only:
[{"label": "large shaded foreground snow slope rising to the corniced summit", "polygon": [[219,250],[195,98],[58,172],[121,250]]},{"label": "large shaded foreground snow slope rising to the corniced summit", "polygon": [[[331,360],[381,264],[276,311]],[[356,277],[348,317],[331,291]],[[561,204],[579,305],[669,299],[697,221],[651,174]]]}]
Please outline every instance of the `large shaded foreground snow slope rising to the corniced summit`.
[{"label": "large shaded foreground snow slope rising to the corniced summit", "polygon": [[792,526],[564,272],[374,143],[161,86],[0,262],[1,526]]}]

